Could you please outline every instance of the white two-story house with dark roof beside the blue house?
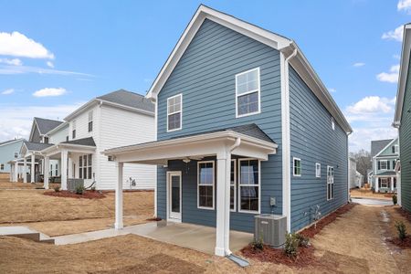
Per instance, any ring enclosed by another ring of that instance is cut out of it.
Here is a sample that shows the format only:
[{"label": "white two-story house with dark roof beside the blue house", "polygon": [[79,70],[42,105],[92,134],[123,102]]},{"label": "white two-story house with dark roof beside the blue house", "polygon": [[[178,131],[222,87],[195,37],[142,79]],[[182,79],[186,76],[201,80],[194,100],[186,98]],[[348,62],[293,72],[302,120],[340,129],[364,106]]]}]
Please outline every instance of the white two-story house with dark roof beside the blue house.
[{"label": "white two-story house with dark roof beside the blue house", "polygon": [[[80,179],[86,187],[113,189],[117,178],[114,159],[102,152],[153,141],[154,105],[142,95],[117,90],[90,100],[47,133],[32,135],[40,135],[43,142],[26,142],[22,152],[42,163],[39,171],[46,188],[50,176],[58,176],[63,190],[70,179]],[[128,163],[124,188],[153,189],[155,175],[151,165]]]}]

